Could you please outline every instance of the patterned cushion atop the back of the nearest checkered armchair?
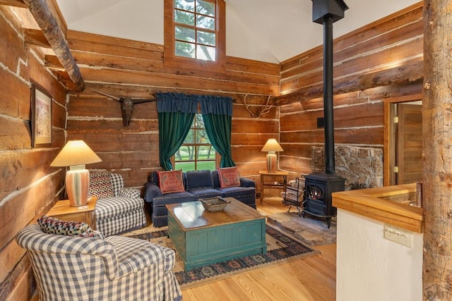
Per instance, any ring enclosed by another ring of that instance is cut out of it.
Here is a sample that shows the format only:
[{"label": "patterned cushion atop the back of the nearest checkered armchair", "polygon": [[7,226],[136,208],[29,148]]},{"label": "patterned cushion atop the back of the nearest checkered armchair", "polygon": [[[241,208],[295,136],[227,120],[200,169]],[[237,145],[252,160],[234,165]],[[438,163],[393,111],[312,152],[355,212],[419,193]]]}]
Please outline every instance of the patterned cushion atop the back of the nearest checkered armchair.
[{"label": "patterned cushion atop the back of the nearest checkered armchair", "polygon": [[47,234],[81,236],[85,238],[96,237],[90,225],[81,221],[61,221],[61,219],[44,215],[37,219],[37,223],[40,225],[41,230]]}]

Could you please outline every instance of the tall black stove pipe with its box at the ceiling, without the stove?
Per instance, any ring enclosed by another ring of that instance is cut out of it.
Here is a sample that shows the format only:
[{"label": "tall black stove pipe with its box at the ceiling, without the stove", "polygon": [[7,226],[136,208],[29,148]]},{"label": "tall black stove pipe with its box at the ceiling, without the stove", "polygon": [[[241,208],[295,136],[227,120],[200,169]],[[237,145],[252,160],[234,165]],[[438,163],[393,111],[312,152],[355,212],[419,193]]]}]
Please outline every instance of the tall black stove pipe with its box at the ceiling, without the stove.
[{"label": "tall black stove pipe with its box at the ceiling, without the stove", "polygon": [[333,23],[348,9],[342,0],[312,0],[312,20],[323,24],[323,118],[325,120],[325,172],[335,174],[333,118]]}]

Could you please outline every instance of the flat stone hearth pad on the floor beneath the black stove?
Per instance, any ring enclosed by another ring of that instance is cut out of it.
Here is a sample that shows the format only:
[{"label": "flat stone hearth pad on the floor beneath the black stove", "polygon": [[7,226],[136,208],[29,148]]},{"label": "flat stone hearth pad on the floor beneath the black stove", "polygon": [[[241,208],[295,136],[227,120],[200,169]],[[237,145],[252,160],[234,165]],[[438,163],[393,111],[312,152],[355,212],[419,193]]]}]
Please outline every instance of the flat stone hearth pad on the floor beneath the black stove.
[{"label": "flat stone hearth pad on the floor beneath the black stove", "polygon": [[306,242],[308,245],[327,245],[336,241],[337,221],[333,216],[331,226],[328,229],[326,219],[306,214],[303,218],[295,212],[280,212],[271,214],[267,218],[278,228],[292,233],[295,238]]}]

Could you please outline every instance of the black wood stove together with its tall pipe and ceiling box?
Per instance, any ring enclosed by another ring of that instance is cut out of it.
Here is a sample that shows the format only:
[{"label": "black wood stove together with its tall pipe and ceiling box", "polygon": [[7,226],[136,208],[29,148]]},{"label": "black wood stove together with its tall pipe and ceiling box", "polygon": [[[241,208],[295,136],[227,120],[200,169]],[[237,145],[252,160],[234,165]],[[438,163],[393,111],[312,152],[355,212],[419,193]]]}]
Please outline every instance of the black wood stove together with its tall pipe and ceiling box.
[{"label": "black wood stove together with its tall pipe and ceiling box", "polygon": [[325,217],[328,228],[337,209],[331,193],[345,189],[345,179],[335,175],[333,125],[333,23],[344,18],[348,7],[342,0],[312,0],[312,20],[323,24],[323,115],[325,120],[326,173],[311,173],[304,182],[302,216]]}]

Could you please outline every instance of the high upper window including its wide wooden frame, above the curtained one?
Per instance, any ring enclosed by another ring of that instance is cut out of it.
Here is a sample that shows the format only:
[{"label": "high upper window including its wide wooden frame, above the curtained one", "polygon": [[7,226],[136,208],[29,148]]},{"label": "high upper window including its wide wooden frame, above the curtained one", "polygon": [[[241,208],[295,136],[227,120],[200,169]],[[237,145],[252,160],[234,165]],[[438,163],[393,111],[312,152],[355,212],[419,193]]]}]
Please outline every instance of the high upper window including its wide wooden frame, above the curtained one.
[{"label": "high upper window including its wide wooden frame, above the curtained one", "polygon": [[165,0],[164,63],[177,68],[224,69],[224,0]]}]

